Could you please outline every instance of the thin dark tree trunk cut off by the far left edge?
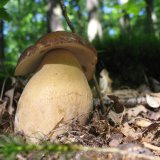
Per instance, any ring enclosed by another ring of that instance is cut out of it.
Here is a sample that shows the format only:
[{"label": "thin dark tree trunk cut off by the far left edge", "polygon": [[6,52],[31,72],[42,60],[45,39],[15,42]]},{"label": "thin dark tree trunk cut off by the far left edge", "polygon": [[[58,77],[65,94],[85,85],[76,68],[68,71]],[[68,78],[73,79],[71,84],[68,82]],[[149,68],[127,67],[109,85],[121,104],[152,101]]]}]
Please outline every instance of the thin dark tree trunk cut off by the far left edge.
[{"label": "thin dark tree trunk cut off by the far left edge", "polygon": [[4,59],[4,37],[3,37],[3,21],[0,21],[0,66]]}]

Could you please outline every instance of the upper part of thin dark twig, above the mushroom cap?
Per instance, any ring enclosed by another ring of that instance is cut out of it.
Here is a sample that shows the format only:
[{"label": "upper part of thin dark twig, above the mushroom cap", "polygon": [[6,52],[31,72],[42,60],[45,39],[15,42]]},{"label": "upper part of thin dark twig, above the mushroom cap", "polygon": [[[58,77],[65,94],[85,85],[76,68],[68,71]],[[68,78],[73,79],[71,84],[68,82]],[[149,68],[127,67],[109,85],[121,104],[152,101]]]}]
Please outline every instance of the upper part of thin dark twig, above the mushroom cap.
[{"label": "upper part of thin dark twig, above the mushroom cap", "polygon": [[66,10],[66,6],[64,5],[64,1],[60,0],[59,2],[60,2],[60,6],[61,6],[61,9],[62,9],[63,16],[66,19],[66,22],[67,22],[69,28],[71,29],[71,31],[73,33],[75,33],[75,29],[74,29],[74,27],[71,23],[71,20],[69,19],[68,15],[67,15],[67,10]]}]

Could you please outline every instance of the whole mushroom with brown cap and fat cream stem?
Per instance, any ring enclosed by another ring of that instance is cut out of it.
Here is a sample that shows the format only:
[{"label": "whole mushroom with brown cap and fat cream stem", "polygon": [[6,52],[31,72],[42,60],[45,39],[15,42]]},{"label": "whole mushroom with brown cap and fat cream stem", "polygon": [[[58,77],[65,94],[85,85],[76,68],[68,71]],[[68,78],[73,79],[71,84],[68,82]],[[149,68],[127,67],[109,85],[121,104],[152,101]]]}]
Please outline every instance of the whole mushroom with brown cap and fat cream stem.
[{"label": "whole mushroom with brown cap and fat cream stem", "polygon": [[96,62],[96,50],[70,32],[49,33],[27,48],[15,75],[34,74],[18,102],[15,132],[37,143],[66,132],[74,119],[85,124],[93,101],[87,80]]}]

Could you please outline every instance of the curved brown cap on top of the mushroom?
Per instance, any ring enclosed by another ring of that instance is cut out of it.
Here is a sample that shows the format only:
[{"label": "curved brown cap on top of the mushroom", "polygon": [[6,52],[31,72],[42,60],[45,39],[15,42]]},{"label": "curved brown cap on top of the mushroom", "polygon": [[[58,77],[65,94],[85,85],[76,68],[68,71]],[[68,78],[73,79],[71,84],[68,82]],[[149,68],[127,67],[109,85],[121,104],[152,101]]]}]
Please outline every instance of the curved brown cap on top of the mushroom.
[{"label": "curved brown cap on top of the mushroom", "polygon": [[15,75],[34,72],[46,53],[54,49],[67,49],[78,59],[88,80],[92,78],[97,63],[96,50],[78,35],[57,31],[46,34],[20,56]]}]

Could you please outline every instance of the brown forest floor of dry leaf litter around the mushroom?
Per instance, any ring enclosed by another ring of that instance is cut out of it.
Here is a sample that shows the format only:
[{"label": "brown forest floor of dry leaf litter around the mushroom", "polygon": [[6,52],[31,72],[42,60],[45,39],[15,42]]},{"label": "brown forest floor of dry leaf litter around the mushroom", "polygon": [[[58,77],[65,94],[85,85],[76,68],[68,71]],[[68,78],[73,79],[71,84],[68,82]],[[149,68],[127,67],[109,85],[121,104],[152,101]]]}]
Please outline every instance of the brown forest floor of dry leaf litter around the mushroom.
[{"label": "brown forest floor of dry leaf litter around the mushroom", "polygon": [[[15,152],[14,147],[27,145],[22,135],[14,134],[15,111],[24,86],[14,77],[3,81],[0,95],[0,159],[160,159],[160,93],[152,93],[147,86],[136,90],[113,90],[105,95],[103,114],[99,99],[94,98],[94,110],[88,123],[82,126],[75,120],[70,130],[49,143],[81,146],[77,150],[73,147],[71,151],[74,152],[62,154],[61,149],[59,152],[47,152],[20,147]],[[15,137],[23,139],[24,143],[14,141]],[[12,152],[16,154],[13,156]]]}]

